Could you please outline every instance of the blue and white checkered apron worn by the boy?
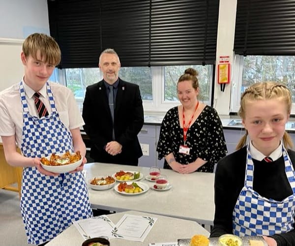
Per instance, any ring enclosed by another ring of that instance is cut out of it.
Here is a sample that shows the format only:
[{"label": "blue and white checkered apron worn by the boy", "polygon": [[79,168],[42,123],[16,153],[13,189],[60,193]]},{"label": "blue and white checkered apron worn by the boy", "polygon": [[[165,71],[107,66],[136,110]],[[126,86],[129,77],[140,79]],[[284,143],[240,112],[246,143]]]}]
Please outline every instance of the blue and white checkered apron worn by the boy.
[{"label": "blue and white checkered apron worn by the boy", "polygon": [[[49,84],[47,93],[52,108],[48,116],[37,118],[29,114],[23,82],[20,95],[23,105],[22,153],[27,157],[73,151],[72,135],[59,119]],[[82,172],[46,176],[35,167],[24,168],[21,211],[28,244],[52,240],[73,221],[92,216],[85,176]]]}]

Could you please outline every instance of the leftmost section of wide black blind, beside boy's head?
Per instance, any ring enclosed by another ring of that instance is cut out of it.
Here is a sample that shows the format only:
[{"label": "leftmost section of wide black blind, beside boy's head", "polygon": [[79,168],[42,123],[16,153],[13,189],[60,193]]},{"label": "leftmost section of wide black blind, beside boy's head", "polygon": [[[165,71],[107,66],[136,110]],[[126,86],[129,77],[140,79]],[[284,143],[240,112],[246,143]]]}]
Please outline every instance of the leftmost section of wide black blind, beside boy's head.
[{"label": "leftmost section of wide black blind, beside boy's head", "polygon": [[49,0],[50,35],[59,43],[59,68],[94,68],[101,50],[100,5],[95,0]]}]

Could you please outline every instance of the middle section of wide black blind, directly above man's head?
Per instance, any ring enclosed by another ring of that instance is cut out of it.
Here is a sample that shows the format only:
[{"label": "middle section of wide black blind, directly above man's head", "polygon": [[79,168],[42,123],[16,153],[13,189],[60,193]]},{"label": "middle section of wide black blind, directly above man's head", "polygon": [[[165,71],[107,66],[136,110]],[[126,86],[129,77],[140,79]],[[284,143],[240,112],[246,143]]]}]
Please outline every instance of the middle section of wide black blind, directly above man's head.
[{"label": "middle section of wide black blind, directly above man's head", "polygon": [[101,0],[102,50],[114,48],[122,67],[148,66],[149,0]]}]

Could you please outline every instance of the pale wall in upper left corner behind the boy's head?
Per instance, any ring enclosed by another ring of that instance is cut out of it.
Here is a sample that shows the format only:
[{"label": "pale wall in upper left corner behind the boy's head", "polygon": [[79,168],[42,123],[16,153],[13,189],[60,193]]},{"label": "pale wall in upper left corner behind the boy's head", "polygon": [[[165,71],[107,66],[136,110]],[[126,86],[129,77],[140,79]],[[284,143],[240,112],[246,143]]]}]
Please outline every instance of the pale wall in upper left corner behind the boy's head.
[{"label": "pale wall in upper left corner behind the boy's head", "polygon": [[21,81],[22,44],[36,32],[50,33],[46,0],[0,0],[0,91]]}]

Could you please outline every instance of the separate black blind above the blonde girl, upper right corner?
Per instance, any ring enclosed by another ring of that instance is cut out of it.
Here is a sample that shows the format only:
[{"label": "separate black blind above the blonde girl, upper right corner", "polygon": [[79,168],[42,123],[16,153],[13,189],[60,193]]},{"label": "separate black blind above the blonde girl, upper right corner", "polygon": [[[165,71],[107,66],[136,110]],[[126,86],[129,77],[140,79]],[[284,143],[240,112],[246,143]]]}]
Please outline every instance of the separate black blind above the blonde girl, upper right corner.
[{"label": "separate black blind above the blonde girl, upper right corner", "polygon": [[237,0],[234,51],[295,55],[295,0]]}]

